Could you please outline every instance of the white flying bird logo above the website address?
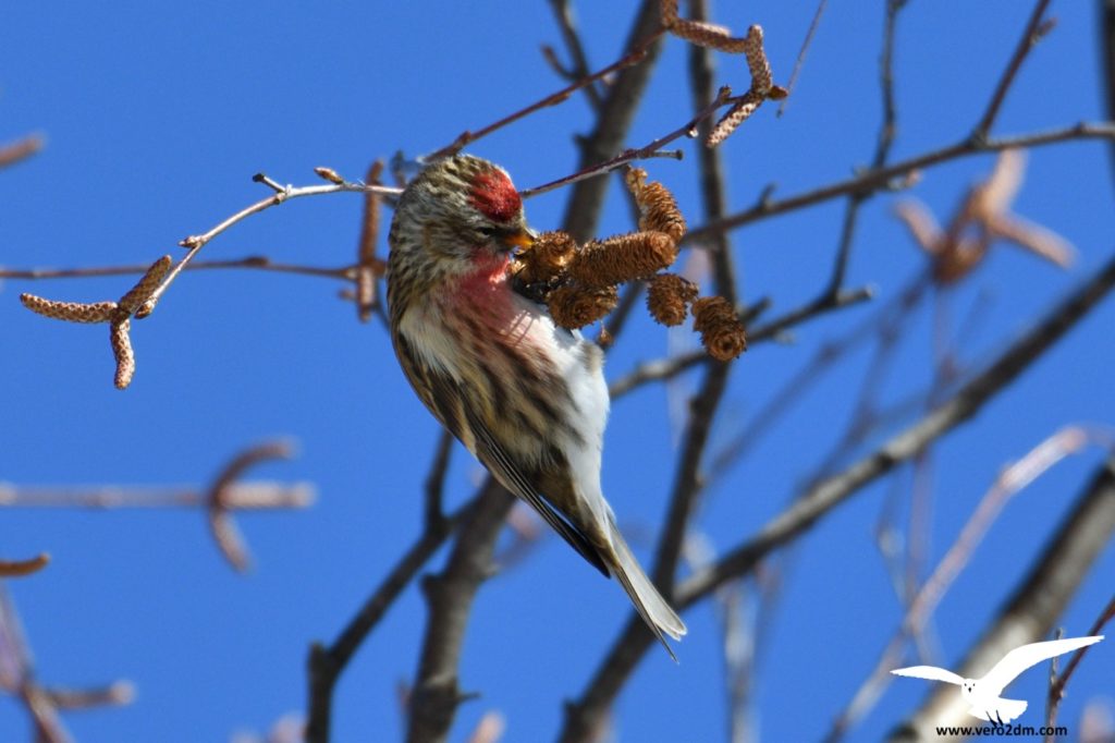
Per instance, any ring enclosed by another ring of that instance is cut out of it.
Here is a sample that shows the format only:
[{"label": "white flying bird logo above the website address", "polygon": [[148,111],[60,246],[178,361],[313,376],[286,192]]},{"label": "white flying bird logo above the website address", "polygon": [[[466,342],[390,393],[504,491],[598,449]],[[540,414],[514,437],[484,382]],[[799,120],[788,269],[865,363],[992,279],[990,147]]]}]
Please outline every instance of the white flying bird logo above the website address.
[{"label": "white flying bird logo above the website address", "polygon": [[1002,660],[995,664],[995,667],[987,672],[987,675],[982,678],[961,678],[951,670],[935,666],[910,666],[909,668],[895,668],[891,673],[898,676],[911,676],[913,678],[956,684],[960,687],[960,694],[963,695],[964,701],[971,705],[968,714],[980,720],[1005,725],[1026,712],[1026,702],[1021,699],[1004,699],[999,696],[1007,684],[1015,681],[1027,668],[1036,666],[1043,660],[1055,658],[1065,653],[1072,653],[1088,645],[1095,645],[1103,638],[1103,635],[1094,637],[1066,637],[1059,640],[1030,643],[1029,645],[1016,647],[1002,656]]}]

